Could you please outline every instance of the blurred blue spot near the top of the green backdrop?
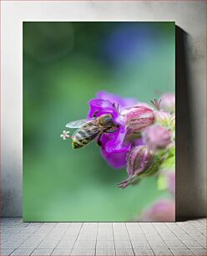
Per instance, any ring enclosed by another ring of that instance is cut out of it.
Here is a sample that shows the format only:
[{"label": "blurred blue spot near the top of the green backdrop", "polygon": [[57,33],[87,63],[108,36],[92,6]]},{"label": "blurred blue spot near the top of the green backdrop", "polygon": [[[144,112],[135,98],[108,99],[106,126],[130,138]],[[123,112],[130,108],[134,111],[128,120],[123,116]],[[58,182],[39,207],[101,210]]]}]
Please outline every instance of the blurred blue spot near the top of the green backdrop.
[{"label": "blurred blue spot near the top of the green backdrop", "polygon": [[158,44],[160,36],[159,29],[147,23],[121,23],[104,41],[104,57],[116,65],[141,61]]}]

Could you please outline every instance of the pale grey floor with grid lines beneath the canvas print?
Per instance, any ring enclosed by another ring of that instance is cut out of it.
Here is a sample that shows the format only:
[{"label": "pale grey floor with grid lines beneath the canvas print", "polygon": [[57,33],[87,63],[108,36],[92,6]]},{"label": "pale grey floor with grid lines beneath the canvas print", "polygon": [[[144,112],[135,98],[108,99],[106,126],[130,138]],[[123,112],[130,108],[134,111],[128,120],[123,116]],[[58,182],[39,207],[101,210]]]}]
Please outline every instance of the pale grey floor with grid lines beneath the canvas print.
[{"label": "pale grey floor with grid lines beneath the canvas print", "polygon": [[206,220],[23,223],[2,218],[0,255],[206,255]]}]

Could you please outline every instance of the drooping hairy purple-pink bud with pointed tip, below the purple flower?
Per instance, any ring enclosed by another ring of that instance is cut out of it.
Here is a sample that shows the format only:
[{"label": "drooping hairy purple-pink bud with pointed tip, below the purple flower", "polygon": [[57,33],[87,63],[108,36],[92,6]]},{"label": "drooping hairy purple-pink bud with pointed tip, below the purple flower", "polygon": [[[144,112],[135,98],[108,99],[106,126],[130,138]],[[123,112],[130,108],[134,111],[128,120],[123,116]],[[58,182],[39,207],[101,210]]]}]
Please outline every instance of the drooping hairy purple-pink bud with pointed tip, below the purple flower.
[{"label": "drooping hairy purple-pink bud with pointed tip, below the purple flower", "polygon": [[134,146],[127,156],[128,178],[120,182],[118,187],[127,187],[140,173],[147,171],[153,163],[154,155],[147,146]]}]

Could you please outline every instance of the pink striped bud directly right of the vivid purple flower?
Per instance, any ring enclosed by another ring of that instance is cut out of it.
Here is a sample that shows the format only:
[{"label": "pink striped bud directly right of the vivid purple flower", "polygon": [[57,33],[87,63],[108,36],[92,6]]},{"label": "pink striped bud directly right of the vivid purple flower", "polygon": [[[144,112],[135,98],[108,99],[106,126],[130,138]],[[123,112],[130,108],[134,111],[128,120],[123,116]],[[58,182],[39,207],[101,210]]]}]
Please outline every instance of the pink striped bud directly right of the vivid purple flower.
[{"label": "pink striped bud directly right of the vivid purple flower", "polygon": [[126,126],[129,131],[143,131],[149,125],[154,123],[154,110],[149,105],[139,104],[132,108],[124,110]]}]

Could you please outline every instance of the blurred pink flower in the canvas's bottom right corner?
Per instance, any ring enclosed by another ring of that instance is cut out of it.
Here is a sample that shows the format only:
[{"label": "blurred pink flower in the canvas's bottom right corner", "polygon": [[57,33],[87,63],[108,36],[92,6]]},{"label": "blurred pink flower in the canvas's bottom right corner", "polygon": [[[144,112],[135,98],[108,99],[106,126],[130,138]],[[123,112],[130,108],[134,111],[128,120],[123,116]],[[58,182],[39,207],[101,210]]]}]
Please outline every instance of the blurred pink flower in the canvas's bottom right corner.
[{"label": "blurred pink flower in the canvas's bottom right corner", "polygon": [[140,216],[142,222],[174,222],[175,221],[175,202],[174,200],[163,199],[155,202],[146,209]]}]

